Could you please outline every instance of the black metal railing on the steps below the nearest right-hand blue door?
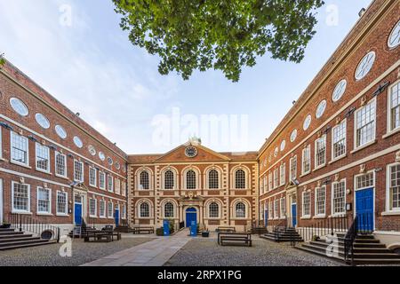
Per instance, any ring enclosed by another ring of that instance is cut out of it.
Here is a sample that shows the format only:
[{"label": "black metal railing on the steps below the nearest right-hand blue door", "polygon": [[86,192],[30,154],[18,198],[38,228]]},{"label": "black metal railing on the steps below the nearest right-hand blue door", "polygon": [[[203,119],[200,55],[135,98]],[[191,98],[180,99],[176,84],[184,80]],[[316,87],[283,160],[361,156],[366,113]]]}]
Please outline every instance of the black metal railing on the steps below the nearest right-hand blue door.
[{"label": "black metal railing on the steps below the nearest right-hand blue door", "polygon": [[373,213],[356,214],[344,240],[344,258],[347,263],[354,264],[354,241],[357,235],[370,233],[373,233]]}]

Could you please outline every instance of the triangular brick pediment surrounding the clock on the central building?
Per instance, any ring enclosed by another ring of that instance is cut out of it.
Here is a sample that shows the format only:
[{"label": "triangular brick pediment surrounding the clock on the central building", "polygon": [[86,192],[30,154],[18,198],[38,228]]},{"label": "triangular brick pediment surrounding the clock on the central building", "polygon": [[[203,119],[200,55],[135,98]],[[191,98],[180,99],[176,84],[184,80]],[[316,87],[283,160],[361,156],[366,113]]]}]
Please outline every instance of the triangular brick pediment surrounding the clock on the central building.
[{"label": "triangular brick pediment surrounding the clock on the central building", "polygon": [[[190,157],[186,154],[188,147],[196,148],[196,156]],[[155,162],[202,162],[202,161],[229,161],[230,159],[218,152],[213,151],[201,144],[187,142],[180,145],[170,152],[162,155]]]}]

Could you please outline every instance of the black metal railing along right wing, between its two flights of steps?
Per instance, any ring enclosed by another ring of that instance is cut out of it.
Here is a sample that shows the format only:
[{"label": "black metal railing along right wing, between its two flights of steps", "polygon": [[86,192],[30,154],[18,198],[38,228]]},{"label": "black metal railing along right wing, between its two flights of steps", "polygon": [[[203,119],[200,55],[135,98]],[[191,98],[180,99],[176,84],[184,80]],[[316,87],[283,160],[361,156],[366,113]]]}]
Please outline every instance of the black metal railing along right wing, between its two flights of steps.
[{"label": "black metal railing along right wing, between its two flights of steps", "polygon": [[300,234],[303,241],[313,241],[316,238],[329,234],[346,233],[351,222],[350,220],[351,217],[348,215],[324,218],[310,225],[304,225],[298,228],[297,232]]}]

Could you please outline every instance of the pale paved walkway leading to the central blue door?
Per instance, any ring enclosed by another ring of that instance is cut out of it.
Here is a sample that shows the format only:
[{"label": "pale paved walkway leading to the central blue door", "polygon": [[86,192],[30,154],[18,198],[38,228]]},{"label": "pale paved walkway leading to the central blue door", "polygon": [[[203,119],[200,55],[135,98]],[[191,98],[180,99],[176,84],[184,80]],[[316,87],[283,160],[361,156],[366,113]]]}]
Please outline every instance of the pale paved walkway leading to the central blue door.
[{"label": "pale paved walkway leading to the central blue door", "polygon": [[183,230],[171,237],[148,241],[82,266],[162,266],[188,241],[188,230]]}]

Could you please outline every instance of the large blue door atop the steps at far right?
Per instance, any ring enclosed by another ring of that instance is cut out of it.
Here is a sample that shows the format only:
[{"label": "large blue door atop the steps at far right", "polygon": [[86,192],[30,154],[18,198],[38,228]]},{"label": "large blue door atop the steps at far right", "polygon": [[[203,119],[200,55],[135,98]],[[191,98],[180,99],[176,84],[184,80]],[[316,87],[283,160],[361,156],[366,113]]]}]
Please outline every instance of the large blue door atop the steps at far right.
[{"label": "large blue door atop the steps at far right", "polygon": [[356,191],[356,217],[359,231],[373,231],[373,188]]}]

